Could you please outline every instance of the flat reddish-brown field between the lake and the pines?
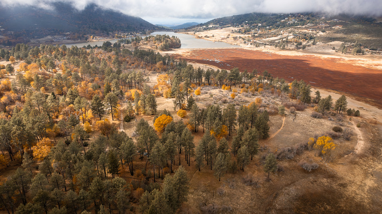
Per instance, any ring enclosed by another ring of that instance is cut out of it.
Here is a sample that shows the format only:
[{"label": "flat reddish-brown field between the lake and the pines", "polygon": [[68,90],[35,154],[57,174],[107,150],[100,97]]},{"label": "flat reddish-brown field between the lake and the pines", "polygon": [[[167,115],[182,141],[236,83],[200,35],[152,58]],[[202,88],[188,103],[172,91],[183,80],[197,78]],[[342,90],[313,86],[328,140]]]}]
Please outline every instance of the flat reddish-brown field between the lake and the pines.
[{"label": "flat reddish-brown field between the lake and the pines", "polygon": [[260,73],[267,70],[273,77],[287,81],[304,80],[312,86],[333,89],[371,99],[382,107],[382,70],[353,65],[351,61],[311,55],[287,56],[246,49],[201,49],[176,55],[184,60],[210,64],[224,69]]}]

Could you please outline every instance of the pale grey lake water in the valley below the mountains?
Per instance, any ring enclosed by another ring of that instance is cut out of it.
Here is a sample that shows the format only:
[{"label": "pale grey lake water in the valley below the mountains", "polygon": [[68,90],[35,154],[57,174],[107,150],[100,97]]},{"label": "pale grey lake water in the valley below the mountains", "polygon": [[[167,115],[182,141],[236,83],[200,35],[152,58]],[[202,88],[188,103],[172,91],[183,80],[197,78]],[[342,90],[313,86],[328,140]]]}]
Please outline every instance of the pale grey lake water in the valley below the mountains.
[{"label": "pale grey lake water in the valley below the mountains", "polygon": [[[168,35],[168,36],[175,36],[180,39],[180,43],[182,43],[181,49],[185,48],[214,48],[214,47],[239,47],[238,45],[229,44],[229,43],[223,43],[223,42],[212,42],[204,39],[196,39],[192,35],[183,34],[183,33],[174,33],[170,31],[156,31],[153,32],[150,35]],[[115,43],[118,40],[107,40],[111,43]],[[87,42],[87,43],[74,43],[74,44],[65,44],[68,48],[72,47],[73,45],[77,45],[77,47],[83,47],[84,45],[87,46],[88,44],[95,46],[101,46],[102,43],[106,41],[95,41],[95,42]]]}]

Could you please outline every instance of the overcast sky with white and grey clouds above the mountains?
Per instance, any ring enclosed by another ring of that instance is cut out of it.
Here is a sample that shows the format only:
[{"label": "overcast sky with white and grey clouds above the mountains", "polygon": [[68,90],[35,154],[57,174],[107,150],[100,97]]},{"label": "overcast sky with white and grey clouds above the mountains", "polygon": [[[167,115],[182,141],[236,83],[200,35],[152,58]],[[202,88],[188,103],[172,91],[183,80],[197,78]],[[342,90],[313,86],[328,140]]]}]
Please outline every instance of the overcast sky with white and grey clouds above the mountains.
[{"label": "overcast sky with white and grey clouds above the mountains", "polygon": [[[56,0],[1,0],[4,5],[40,5]],[[250,12],[382,16],[382,0],[61,0],[83,9],[88,3],[141,17],[151,23],[205,22],[211,19]]]}]

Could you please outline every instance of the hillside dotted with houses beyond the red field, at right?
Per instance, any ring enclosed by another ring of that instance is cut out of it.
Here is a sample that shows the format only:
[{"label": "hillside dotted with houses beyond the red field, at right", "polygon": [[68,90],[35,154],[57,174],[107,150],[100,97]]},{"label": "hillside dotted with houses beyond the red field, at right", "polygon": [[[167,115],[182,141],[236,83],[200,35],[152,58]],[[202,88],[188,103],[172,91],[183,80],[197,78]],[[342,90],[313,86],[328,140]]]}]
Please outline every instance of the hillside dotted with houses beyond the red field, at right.
[{"label": "hillside dotted with houses beyond the red field, at right", "polygon": [[370,50],[382,50],[382,22],[376,19],[344,14],[329,16],[318,13],[249,13],[218,18],[199,24],[198,27],[203,27],[201,29],[203,31],[216,27],[235,26],[240,28],[239,31],[242,34],[252,34],[257,37],[261,35],[262,38],[278,37],[289,32],[301,39],[307,35],[309,37],[310,32],[323,32],[320,35],[315,33],[316,35],[309,39],[317,39],[324,43],[358,42]]}]

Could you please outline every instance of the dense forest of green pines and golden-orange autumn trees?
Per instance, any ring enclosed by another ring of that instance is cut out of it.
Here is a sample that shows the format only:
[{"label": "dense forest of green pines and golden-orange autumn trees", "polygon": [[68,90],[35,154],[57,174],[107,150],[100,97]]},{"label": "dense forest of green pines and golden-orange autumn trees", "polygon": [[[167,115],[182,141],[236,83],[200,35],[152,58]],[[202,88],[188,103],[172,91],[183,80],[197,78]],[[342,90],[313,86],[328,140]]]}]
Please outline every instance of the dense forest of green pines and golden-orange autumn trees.
[{"label": "dense forest of green pines and golden-orange autumn trees", "polygon": [[[259,140],[269,137],[269,115],[285,112],[259,97],[240,105],[237,93],[276,96],[296,110],[315,103],[322,115],[333,105],[319,91],[312,99],[304,81],[287,84],[266,70],[194,68],[120,43],[17,44],[0,49],[0,57],[11,63],[0,68],[0,170],[8,172],[0,177],[0,208],[9,214],[175,213],[187,200],[186,167],[206,165],[219,181],[226,172],[244,171]],[[149,86],[153,72],[159,75]],[[194,96],[207,87],[232,90],[234,103],[198,107]],[[188,112],[189,119],[158,110],[158,97],[171,98],[177,115]],[[335,103],[337,112],[345,107],[346,98]],[[136,119],[134,132],[126,134],[123,124]],[[195,145],[193,133],[200,131]],[[317,148],[329,160],[335,145],[325,142],[332,147]],[[280,152],[264,157],[268,177],[277,170],[276,158],[285,156]]]}]

